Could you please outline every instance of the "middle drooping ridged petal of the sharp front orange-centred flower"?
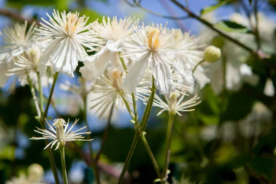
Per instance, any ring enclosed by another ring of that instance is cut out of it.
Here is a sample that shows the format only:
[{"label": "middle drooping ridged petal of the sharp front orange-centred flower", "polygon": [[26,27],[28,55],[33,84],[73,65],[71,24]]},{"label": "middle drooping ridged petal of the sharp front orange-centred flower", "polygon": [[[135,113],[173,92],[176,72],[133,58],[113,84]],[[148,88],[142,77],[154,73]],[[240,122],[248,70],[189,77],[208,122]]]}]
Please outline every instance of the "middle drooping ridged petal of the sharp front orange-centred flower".
[{"label": "middle drooping ridged petal of the sharp front orange-centred flower", "polygon": [[175,90],[171,68],[167,62],[162,62],[158,55],[153,54],[152,58],[151,73],[155,79],[155,86],[159,90],[160,94],[169,98],[170,92]]}]

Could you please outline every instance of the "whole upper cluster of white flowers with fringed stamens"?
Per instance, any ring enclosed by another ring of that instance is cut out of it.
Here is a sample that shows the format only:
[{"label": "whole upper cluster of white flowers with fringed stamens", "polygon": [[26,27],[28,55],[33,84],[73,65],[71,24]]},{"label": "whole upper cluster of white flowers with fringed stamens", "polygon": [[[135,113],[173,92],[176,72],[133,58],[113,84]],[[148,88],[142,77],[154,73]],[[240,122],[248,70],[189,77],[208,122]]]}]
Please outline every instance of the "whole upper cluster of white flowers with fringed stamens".
[{"label": "whole upper cluster of white flowers with fringed stamens", "polygon": [[[55,10],[47,16],[49,20],[42,18],[40,27],[33,22],[27,31],[25,22],[1,32],[1,86],[10,75],[28,77],[35,83],[47,68],[48,72],[74,77],[80,61],[84,63],[80,68],[82,77],[94,84],[86,92],[99,94],[93,95],[91,108],[97,108],[101,117],[113,106],[132,105],[131,93],[135,93],[136,100],[146,101],[152,76],[166,99],[174,91],[193,91],[194,87],[189,86],[194,82],[201,88],[209,82],[200,65],[195,69],[203,60],[204,45],[198,44],[199,38],[190,32],[162,24],[139,25],[136,18],[103,17],[101,23],[88,23],[88,17],[78,12]],[[92,51],[95,53],[88,55]]]}]

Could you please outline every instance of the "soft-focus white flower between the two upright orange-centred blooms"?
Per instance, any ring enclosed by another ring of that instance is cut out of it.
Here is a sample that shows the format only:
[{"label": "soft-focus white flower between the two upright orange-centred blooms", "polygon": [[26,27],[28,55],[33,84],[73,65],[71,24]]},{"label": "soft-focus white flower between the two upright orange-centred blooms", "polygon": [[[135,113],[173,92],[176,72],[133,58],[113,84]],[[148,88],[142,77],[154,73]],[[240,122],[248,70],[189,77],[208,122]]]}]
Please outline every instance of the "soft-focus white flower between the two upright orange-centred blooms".
[{"label": "soft-focus white flower between the two upright orange-centred blooms", "polygon": [[[113,17],[112,21],[110,17],[105,21],[105,17],[102,19],[102,23],[95,25],[94,30],[97,35],[105,41],[105,45],[97,52],[95,55],[88,56],[85,61],[85,69],[90,71],[89,77],[87,79],[97,78],[98,76],[104,74],[105,70],[110,67],[115,67],[123,71],[123,66],[121,64],[118,52],[121,51],[121,40],[126,36],[133,33],[133,25],[138,25],[139,20],[135,18],[121,18],[119,21],[117,17]],[[84,68],[82,67],[82,68]],[[86,76],[81,69],[83,76]]]}]

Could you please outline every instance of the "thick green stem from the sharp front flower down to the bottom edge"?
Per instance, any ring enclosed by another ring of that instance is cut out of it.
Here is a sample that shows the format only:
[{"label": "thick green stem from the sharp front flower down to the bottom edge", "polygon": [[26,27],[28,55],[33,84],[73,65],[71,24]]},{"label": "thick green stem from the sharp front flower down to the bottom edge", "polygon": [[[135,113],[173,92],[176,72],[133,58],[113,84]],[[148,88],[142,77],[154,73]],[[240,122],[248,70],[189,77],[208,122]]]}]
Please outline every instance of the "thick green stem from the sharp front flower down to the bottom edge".
[{"label": "thick green stem from the sharp front flower down to the bottom edge", "polygon": [[[142,133],[143,131],[145,131],[145,128],[146,128],[146,125],[147,125],[147,122],[148,122],[148,118],[149,118],[149,114],[151,112],[151,108],[152,108],[152,103],[153,103],[153,99],[154,99],[154,95],[155,95],[155,91],[156,91],[156,88],[155,88],[155,85],[154,85],[154,78],[152,77],[152,87],[151,87],[151,95],[149,97],[149,101],[146,105],[146,108],[145,108],[145,111],[144,111],[144,114],[143,114],[143,117],[141,119],[141,122],[140,124],[138,125],[138,128],[135,129],[135,135],[134,135],[134,138],[133,138],[133,141],[132,141],[132,144],[131,144],[131,147],[129,149],[129,152],[128,152],[128,156],[125,160],[125,165],[123,167],[123,170],[121,172],[121,175],[119,177],[119,180],[118,180],[118,183],[117,184],[121,184],[122,181],[123,181],[123,178],[125,176],[125,173],[128,169],[128,165],[130,163],[130,160],[131,160],[131,157],[133,155],[133,152],[135,150],[135,146],[138,142],[138,139],[139,139],[139,136],[140,136],[140,133]],[[151,100],[152,99],[152,100]],[[141,126],[140,126],[141,125]]]}]

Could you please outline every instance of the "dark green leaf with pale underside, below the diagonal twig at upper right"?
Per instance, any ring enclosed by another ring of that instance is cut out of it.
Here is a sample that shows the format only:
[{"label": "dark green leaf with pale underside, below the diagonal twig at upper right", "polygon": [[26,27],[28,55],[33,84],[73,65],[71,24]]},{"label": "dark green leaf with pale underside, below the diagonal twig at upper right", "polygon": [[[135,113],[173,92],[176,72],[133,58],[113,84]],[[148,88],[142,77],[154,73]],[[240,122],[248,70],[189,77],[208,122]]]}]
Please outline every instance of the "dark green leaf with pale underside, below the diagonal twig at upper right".
[{"label": "dark green leaf with pale underside, below the diagonal twig at upper right", "polygon": [[240,25],[236,22],[231,22],[228,20],[222,20],[216,24],[214,24],[216,28],[219,28],[222,31],[227,32],[238,32],[238,33],[247,33],[248,29],[247,27]]}]

